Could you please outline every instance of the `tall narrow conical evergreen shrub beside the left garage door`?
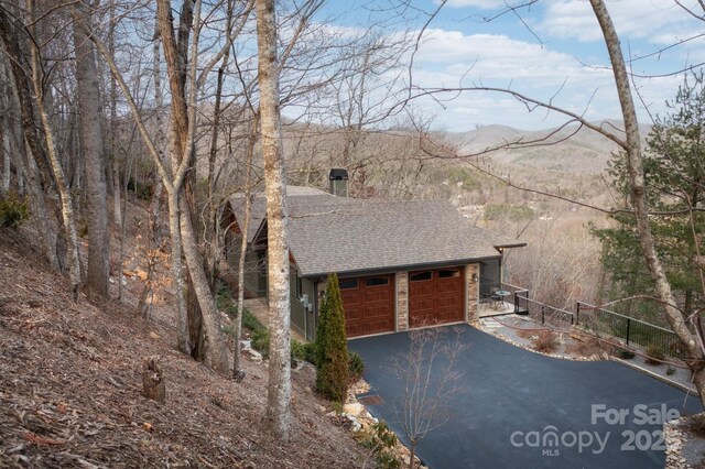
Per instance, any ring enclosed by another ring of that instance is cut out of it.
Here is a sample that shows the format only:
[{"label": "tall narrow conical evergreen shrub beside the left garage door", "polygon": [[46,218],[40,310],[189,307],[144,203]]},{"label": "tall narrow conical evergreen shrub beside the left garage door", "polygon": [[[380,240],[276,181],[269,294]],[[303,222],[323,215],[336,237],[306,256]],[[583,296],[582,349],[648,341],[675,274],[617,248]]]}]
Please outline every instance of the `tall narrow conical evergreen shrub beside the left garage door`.
[{"label": "tall narrow conical evergreen shrub beside the left garage door", "polygon": [[316,330],[316,389],[330,401],[344,403],[349,382],[348,342],[338,276],[328,275]]}]

